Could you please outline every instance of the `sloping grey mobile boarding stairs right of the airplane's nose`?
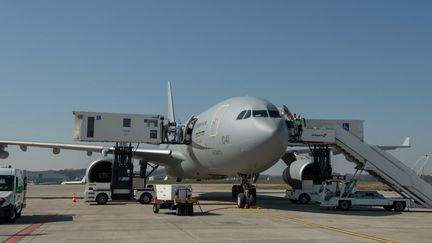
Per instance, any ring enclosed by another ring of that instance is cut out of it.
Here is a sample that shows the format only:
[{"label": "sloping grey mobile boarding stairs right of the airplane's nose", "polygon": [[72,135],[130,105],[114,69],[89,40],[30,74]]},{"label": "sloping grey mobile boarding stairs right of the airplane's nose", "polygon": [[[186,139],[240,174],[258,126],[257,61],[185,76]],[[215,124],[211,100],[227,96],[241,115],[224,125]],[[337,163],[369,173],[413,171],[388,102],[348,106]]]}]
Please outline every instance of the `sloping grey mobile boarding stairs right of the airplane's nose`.
[{"label": "sloping grey mobile boarding stairs right of the airplane's nose", "polygon": [[291,145],[333,146],[348,161],[356,163],[404,198],[422,207],[432,207],[432,186],[390,153],[364,142],[362,125],[352,131],[350,123],[339,120],[307,119],[304,123],[300,141]]}]

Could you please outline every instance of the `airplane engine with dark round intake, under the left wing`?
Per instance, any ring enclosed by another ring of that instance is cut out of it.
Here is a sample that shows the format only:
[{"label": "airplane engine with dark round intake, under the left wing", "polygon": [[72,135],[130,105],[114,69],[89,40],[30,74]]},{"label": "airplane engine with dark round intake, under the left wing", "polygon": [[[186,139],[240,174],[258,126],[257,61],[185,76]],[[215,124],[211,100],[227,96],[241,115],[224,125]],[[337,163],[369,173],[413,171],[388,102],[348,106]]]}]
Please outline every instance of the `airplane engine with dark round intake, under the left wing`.
[{"label": "airplane engine with dark round intake, under the left wing", "polygon": [[112,163],[113,161],[108,158],[93,161],[86,170],[87,182],[111,182]]}]

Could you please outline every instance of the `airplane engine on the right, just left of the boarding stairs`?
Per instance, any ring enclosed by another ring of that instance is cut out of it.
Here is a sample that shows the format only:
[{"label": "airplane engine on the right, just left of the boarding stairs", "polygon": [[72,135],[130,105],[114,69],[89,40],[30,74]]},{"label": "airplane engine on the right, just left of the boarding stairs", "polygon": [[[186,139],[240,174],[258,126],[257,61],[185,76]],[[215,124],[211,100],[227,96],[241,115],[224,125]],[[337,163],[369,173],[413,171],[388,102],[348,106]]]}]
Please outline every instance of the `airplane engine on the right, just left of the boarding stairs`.
[{"label": "airplane engine on the right, just left of the boarding stairs", "polygon": [[313,162],[311,160],[297,160],[284,170],[282,178],[293,189],[302,189],[303,180],[313,179]]}]

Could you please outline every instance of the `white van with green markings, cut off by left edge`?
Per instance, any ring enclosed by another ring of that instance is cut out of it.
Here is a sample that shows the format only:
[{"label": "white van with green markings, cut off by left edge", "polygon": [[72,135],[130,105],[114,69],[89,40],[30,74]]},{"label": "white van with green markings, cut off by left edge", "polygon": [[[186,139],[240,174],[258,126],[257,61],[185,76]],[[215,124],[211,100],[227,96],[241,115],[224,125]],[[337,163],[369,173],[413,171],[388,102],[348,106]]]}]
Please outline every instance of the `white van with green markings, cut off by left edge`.
[{"label": "white van with green markings, cut off by left edge", "polygon": [[24,171],[0,168],[0,218],[13,223],[26,206],[27,182]]}]

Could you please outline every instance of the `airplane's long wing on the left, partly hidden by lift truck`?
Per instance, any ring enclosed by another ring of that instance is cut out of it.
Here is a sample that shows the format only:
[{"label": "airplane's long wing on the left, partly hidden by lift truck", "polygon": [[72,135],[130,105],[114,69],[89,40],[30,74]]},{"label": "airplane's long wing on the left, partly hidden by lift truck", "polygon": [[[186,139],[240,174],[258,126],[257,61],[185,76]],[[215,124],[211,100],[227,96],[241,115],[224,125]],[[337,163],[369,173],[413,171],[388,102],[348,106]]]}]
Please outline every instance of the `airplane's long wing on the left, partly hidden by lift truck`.
[{"label": "airplane's long wing on the left, partly hidden by lift truck", "polygon": [[[54,154],[59,154],[62,149],[85,151],[90,156],[92,153],[102,153],[103,156],[112,154],[114,147],[104,147],[98,145],[85,144],[63,144],[63,143],[44,143],[27,141],[2,141],[0,140],[0,158],[5,159],[9,152],[5,150],[9,145],[19,146],[22,151],[27,151],[27,147],[51,148]],[[146,160],[162,166],[174,166],[184,158],[180,153],[170,149],[137,149],[133,154],[134,158]]]}]

